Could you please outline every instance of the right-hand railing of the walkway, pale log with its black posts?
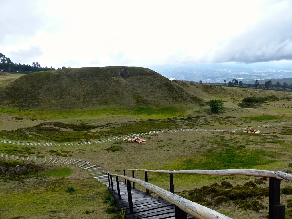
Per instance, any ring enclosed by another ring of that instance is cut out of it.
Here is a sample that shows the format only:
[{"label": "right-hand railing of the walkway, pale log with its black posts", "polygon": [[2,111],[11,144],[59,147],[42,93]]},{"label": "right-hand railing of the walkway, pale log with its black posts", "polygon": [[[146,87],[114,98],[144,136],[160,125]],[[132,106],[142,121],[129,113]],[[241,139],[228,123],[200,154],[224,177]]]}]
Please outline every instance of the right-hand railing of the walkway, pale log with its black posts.
[{"label": "right-hand railing of the walkway, pale log with its black posts", "polygon": [[[134,178],[134,171],[145,171],[145,181],[148,182],[148,172],[153,173],[168,173],[169,174],[169,191],[174,193],[173,174],[204,174],[204,175],[222,175],[222,176],[255,176],[270,178],[269,186],[269,219],[284,219],[285,206],[280,204],[280,184],[281,180],[288,180],[292,182],[292,174],[282,171],[271,170],[254,170],[254,169],[231,169],[231,170],[147,170],[147,169],[128,169],[125,171],[132,171]],[[140,184],[139,184],[140,185]],[[147,190],[146,190],[147,191]],[[148,191],[147,191],[148,193]]]}]

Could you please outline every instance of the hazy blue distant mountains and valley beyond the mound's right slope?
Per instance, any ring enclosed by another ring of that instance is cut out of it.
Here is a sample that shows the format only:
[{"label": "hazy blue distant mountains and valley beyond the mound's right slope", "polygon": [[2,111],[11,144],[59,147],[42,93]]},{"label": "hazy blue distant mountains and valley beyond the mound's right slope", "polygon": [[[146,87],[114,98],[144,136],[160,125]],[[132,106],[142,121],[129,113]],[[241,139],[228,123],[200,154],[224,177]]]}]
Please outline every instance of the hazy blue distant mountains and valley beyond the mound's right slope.
[{"label": "hazy blue distant mountains and valley beyond the mound's right slope", "polygon": [[[292,65],[290,62],[178,64],[147,67],[168,79],[202,80],[204,83],[223,82],[224,80],[228,83],[234,78],[244,83],[248,81],[253,81],[254,83],[256,79],[266,81],[267,79],[278,80],[292,77]],[[289,84],[290,82],[286,81],[286,83]]]}]

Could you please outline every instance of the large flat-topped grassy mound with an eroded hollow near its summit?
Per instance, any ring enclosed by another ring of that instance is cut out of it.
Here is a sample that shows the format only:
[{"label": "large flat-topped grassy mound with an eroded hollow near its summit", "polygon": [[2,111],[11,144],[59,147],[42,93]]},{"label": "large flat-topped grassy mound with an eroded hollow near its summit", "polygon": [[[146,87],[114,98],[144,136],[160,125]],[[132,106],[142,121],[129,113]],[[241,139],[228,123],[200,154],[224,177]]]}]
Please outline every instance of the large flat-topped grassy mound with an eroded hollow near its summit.
[{"label": "large flat-topped grassy mound with an eroded hollow near its summit", "polygon": [[205,102],[157,72],[121,66],[30,73],[2,86],[0,100],[1,107],[50,110]]}]

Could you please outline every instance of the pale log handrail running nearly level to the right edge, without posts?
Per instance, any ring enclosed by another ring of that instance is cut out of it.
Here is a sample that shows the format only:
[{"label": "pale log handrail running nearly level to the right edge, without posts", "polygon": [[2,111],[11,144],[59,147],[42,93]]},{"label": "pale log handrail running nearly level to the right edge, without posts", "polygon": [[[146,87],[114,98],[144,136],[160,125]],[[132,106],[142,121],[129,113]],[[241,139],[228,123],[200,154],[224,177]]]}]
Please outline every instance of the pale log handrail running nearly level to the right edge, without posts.
[{"label": "pale log handrail running nearly level to the right edge, without posts", "polygon": [[222,175],[222,176],[233,176],[233,175],[244,175],[244,176],[256,176],[256,177],[268,177],[277,178],[280,180],[288,180],[292,182],[292,174],[285,173],[282,171],[272,170],[253,170],[253,169],[231,169],[231,170],[147,170],[147,169],[127,169],[131,171],[145,171],[154,173],[189,173],[189,174],[204,174],[204,175]]}]

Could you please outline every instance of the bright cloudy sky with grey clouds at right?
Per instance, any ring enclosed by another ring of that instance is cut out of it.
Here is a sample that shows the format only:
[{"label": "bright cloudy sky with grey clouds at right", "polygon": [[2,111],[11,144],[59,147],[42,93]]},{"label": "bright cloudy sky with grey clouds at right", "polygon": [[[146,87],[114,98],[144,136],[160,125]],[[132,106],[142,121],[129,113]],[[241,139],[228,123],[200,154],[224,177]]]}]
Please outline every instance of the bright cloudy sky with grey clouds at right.
[{"label": "bright cloudy sky with grey clouds at right", "polygon": [[292,0],[0,0],[0,8],[0,52],[17,63],[292,60]]}]

